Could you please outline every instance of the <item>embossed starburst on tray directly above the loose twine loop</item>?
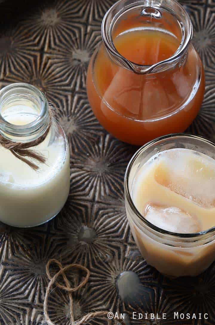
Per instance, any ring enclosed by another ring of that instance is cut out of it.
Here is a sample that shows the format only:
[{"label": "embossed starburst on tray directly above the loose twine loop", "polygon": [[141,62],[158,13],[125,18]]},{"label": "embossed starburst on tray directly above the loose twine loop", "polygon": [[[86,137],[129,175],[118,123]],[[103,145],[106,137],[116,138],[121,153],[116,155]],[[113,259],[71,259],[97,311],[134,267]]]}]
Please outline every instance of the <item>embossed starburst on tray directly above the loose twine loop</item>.
[{"label": "embossed starburst on tray directly above the loose twine loop", "polygon": [[63,263],[80,263],[91,268],[95,260],[112,261],[121,241],[123,219],[120,208],[118,205],[119,210],[116,207],[114,214],[109,203],[93,204],[69,197],[61,213],[52,221],[51,228],[52,233],[59,233],[67,241],[62,252]]}]

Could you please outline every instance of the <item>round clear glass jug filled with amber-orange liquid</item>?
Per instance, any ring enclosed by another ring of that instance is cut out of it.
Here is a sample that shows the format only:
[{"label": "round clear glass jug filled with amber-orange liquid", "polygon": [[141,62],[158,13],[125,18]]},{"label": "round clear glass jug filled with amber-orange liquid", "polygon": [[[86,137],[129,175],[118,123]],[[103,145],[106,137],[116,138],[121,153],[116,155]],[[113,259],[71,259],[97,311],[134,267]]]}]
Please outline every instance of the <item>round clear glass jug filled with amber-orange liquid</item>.
[{"label": "round clear glass jug filled with amber-orange liquid", "polygon": [[189,15],[174,0],[120,0],[107,11],[87,94],[108,132],[143,145],[192,123],[205,90],[192,34]]}]

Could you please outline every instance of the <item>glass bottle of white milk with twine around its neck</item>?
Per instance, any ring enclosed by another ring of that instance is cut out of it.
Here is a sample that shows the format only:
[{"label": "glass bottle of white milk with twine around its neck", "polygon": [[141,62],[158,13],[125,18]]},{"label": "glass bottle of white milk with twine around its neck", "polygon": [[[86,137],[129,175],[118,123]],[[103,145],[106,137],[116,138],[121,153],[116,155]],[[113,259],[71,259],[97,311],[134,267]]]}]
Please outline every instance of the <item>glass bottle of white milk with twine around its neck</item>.
[{"label": "glass bottle of white milk with twine around its neck", "polygon": [[[66,135],[39,89],[15,83],[0,91],[0,136],[0,221],[32,227],[50,220],[69,194],[70,154]],[[34,146],[19,149],[28,143]],[[11,149],[14,144],[18,150]]]}]

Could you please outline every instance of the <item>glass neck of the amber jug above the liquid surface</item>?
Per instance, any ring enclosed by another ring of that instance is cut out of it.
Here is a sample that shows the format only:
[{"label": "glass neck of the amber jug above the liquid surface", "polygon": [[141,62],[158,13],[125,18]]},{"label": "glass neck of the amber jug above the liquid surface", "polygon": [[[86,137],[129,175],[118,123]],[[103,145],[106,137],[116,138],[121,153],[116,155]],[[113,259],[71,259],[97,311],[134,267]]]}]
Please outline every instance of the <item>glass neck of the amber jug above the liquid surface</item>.
[{"label": "glass neck of the amber jug above the liquid surface", "polygon": [[[180,45],[169,59],[152,65],[136,64],[124,58],[114,46],[114,39],[128,26],[129,29],[141,27],[171,33]],[[132,72],[146,74],[182,65],[187,57],[193,28],[189,15],[175,0],[119,0],[105,14],[101,32],[107,52],[115,63]]]}]

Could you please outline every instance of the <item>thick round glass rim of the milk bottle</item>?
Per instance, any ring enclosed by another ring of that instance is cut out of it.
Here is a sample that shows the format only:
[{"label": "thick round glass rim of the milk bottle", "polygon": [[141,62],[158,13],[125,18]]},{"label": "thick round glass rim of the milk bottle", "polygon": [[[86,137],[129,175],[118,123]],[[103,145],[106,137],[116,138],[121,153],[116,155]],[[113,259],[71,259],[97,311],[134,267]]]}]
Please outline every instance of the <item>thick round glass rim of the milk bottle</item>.
[{"label": "thick round glass rim of the milk bottle", "polygon": [[[17,124],[10,123],[4,119],[4,117],[1,114],[1,105],[2,105],[1,98],[3,96],[6,96],[7,93],[9,98],[10,96],[9,93],[11,90],[20,91],[20,94],[21,91],[23,90],[29,90],[32,93],[35,93],[39,99],[41,99],[42,105],[40,107],[40,112],[34,121],[24,125],[17,125]],[[33,135],[36,132],[38,132],[38,130],[40,130],[41,127],[44,126],[44,122],[47,120],[47,118],[48,118],[48,101],[44,93],[40,91],[37,87],[27,83],[12,83],[6,85],[0,90],[0,132],[4,132],[10,136],[20,136],[20,137]]]}]

